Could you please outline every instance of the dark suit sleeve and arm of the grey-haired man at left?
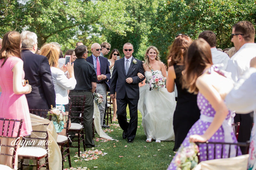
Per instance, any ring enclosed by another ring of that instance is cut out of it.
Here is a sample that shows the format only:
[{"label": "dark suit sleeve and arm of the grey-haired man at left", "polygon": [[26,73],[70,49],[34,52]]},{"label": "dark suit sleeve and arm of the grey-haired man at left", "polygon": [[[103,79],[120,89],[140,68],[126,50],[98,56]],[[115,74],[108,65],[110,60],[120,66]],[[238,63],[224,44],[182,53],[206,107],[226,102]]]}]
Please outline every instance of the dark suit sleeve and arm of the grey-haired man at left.
[{"label": "dark suit sleeve and arm of the grey-haired man at left", "polygon": [[42,87],[44,89],[44,95],[46,97],[46,100],[50,109],[51,105],[53,107],[55,107],[56,105],[55,103],[56,95],[55,95],[54,85],[52,82],[52,73],[51,73],[50,65],[46,57],[43,57],[41,61],[40,75],[41,75]]}]

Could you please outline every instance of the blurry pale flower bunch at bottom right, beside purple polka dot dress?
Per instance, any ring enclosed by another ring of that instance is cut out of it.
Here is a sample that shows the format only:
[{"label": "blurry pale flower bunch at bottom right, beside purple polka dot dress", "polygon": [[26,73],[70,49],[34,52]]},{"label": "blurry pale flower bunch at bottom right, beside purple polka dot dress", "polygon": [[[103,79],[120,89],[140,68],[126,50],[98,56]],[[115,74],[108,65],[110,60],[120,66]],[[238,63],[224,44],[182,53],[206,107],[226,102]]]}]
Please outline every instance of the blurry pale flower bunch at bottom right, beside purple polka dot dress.
[{"label": "blurry pale flower bunch at bottom right, beside purple polka dot dress", "polygon": [[175,164],[178,170],[190,170],[198,164],[197,153],[199,152],[198,146],[193,143],[187,147],[181,147],[175,157]]}]

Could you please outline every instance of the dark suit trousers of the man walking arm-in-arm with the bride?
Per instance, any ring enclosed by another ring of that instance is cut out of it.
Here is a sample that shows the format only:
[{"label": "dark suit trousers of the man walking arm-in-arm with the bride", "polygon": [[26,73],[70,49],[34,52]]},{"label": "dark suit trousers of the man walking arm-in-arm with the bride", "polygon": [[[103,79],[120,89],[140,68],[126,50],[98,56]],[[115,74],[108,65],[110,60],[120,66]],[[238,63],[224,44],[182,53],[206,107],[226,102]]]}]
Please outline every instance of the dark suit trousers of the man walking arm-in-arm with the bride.
[{"label": "dark suit trousers of the man walking arm-in-arm with the bride", "polygon": [[[120,127],[127,132],[127,139],[134,140],[138,127],[138,101],[139,99],[130,99],[125,94],[124,99],[116,99],[117,119]],[[129,107],[130,122],[127,122],[126,107]]]}]

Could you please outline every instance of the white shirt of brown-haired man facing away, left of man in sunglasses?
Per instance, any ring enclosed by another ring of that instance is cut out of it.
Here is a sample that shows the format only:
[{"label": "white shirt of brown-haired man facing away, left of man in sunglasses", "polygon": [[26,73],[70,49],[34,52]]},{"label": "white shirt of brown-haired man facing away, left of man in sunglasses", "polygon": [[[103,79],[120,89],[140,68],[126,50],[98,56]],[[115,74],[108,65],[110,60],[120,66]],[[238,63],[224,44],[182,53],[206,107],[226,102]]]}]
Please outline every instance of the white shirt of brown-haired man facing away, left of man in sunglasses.
[{"label": "white shirt of brown-haired man facing away, left of man in sunglasses", "polygon": [[220,64],[223,63],[223,67],[219,67],[221,70],[226,70],[228,66],[228,61],[230,60],[229,56],[226,53],[223,53],[217,48],[211,48],[211,53],[212,53],[212,63],[213,64]]}]

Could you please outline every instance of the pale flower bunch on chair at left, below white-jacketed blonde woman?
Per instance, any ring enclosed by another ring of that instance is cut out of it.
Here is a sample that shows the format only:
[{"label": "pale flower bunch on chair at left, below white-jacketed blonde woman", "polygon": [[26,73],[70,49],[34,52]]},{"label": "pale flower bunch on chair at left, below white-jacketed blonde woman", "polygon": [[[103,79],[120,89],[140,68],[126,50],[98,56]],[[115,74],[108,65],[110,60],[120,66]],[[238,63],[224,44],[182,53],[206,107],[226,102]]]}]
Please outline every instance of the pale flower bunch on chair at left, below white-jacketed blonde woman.
[{"label": "pale flower bunch on chair at left, below white-jacketed blonde woman", "polygon": [[54,122],[57,122],[59,127],[62,126],[61,121],[65,123],[66,120],[68,119],[68,115],[66,115],[65,112],[62,112],[61,108],[55,108],[55,107],[52,107],[52,105],[51,105],[51,110],[48,112],[47,116],[48,116],[47,119],[49,119],[49,117],[52,116],[51,120]]}]

